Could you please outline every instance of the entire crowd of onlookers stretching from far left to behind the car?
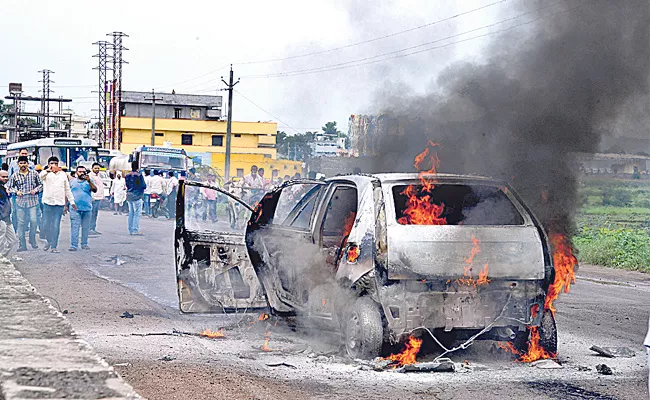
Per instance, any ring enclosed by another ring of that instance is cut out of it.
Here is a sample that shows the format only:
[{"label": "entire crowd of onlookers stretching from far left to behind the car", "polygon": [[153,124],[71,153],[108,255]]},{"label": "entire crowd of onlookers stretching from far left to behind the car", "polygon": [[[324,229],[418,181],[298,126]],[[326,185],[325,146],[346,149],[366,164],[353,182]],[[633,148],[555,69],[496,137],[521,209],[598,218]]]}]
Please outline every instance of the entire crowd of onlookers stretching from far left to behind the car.
[{"label": "entire crowd of onlookers stretching from far left to behind the car", "polygon": [[[61,220],[66,214],[70,220],[69,251],[89,250],[88,238],[101,235],[97,219],[100,207],[106,202],[101,166],[95,163],[88,171],[78,165],[68,171],[59,163],[57,157],[50,157],[45,166],[34,165],[28,151],[22,149],[17,160],[10,165],[3,164],[0,169],[0,262],[10,262],[14,250],[28,251],[28,245],[32,250],[42,248],[59,253]],[[218,182],[214,172],[202,175],[197,175],[194,169],[187,176],[176,176],[171,171],[140,171],[134,162],[125,176],[121,171],[112,174],[109,204],[115,214],[128,213],[129,234],[140,236],[142,215],[175,218],[179,178],[221,187],[248,204],[259,201],[273,187],[300,178],[296,173],[292,177],[267,179],[264,169],[257,166],[252,166],[249,174],[228,182]],[[216,221],[219,201],[216,191],[199,193],[204,219]],[[44,244],[39,245],[37,239]]]}]

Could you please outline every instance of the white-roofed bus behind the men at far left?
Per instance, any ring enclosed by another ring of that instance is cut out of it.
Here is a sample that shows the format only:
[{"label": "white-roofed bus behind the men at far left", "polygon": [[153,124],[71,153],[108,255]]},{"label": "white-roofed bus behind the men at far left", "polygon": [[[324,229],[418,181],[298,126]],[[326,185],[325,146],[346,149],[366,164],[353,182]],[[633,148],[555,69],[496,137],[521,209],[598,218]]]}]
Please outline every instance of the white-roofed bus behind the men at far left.
[{"label": "white-roofed bus behind the men at far left", "polygon": [[27,149],[29,159],[36,165],[47,165],[48,158],[56,156],[59,166],[74,169],[77,165],[90,168],[99,160],[99,145],[92,139],[44,138],[12,143],[7,146],[6,163],[18,159],[18,152]]}]

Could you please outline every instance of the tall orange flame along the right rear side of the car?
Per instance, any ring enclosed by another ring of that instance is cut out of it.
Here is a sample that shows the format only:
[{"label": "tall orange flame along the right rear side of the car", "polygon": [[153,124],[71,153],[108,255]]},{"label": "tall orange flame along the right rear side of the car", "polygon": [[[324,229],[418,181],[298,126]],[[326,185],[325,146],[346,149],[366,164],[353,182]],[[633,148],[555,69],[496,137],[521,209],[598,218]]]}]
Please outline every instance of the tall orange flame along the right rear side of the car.
[{"label": "tall orange flame along the right rear side of the car", "polygon": [[555,266],[555,280],[548,288],[544,309],[550,310],[555,315],[553,302],[560,293],[569,293],[571,284],[576,281],[575,269],[578,259],[573,255],[571,241],[567,236],[559,233],[549,235],[551,248],[553,249],[553,265]]}]

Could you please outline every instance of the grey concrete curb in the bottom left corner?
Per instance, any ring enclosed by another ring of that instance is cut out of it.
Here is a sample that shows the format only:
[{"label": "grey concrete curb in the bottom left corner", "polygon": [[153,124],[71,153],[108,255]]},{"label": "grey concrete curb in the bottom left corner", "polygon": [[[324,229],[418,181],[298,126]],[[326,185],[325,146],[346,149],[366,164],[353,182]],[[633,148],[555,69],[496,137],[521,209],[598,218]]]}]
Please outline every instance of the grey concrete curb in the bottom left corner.
[{"label": "grey concrete curb in the bottom left corner", "polygon": [[0,400],[141,399],[50,301],[0,263]]}]

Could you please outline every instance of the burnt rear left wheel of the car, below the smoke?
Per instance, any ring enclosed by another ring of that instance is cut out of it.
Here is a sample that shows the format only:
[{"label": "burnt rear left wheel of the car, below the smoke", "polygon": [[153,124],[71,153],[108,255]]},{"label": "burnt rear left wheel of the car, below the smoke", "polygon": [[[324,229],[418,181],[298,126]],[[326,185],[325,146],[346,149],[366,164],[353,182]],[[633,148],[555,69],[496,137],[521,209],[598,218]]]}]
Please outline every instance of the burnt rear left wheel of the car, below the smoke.
[{"label": "burnt rear left wheel of the car, below the smoke", "polygon": [[345,313],[343,340],[351,358],[372,359],[380,356],[384,324],[379,304],[369,297],[357,299]]}]

